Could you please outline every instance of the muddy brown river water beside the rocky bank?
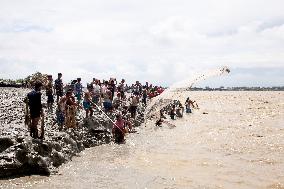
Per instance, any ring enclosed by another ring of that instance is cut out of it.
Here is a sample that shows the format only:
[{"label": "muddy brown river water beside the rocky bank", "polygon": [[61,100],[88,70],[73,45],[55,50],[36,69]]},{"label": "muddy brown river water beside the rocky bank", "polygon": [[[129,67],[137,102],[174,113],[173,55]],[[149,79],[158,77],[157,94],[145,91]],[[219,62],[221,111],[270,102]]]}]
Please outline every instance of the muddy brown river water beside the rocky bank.
[{"label": "muddy brown river water beside the rocky bank", "polygon": [[126,144],[85,150],[58,175],[0,181],[1,187],[283,188],[284,93],[191,97],[201,109],[176,120],[175,128],[148,123]]}]

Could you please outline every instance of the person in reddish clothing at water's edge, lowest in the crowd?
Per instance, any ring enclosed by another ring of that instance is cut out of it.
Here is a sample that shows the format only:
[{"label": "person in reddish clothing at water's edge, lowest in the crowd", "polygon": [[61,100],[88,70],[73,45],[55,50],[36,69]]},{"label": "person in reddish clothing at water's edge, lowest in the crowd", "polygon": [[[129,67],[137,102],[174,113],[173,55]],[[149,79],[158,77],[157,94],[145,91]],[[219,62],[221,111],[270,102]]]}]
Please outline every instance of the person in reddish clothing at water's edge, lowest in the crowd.
[{"label": "person in reddish clothing at water's edge, lowest in the crowd", "polygon": [[116,115],[116,121],[112,127],[112,134],[116,143],[124,142],[125,121],[120,114]]}]

